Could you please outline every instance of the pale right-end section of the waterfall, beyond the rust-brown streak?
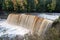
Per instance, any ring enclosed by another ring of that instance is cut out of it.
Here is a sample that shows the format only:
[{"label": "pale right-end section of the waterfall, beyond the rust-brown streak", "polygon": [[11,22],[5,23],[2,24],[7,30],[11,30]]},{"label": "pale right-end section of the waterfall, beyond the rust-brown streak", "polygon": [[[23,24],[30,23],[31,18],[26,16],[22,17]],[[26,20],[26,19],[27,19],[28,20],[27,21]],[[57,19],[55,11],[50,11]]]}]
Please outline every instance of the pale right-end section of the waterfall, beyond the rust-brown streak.
[{"label": "pale right-end section of the waterfall, beyond the rust-brown streak", "polygon": [[40,25],[38,35],[44,34],[52,25],[53,21],[44,19],[42,24]]}]

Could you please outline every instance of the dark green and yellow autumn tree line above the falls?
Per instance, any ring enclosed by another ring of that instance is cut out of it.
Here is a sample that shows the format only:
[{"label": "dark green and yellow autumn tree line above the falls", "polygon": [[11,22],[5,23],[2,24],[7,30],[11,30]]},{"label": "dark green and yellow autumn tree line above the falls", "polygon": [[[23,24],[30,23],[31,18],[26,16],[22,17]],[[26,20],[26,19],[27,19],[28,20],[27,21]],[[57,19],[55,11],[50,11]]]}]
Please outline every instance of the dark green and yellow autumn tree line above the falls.
[{"label": "dark green and yellow autumn tree line above the falls", "polygon": [[60,12],[60,0],[0,0],[7,12]]}]

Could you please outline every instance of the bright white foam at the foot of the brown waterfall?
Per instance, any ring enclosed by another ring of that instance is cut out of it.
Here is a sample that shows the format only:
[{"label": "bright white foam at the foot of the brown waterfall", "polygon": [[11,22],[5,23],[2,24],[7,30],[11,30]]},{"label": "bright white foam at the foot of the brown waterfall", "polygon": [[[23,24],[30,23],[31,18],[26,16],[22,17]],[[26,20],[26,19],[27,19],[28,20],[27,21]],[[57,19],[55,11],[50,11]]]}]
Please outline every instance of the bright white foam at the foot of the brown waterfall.
[{"label": "bright white foam at the foot of the brown waterfall", "polygon": [[7,29],[6,34],[15,34],[15,35],[24,36],[25,34],[30,32],[26,28],[23,28],[21,26],[10,25],[10,24],[8,24],[6,22],[0,23],[0,25]]}]

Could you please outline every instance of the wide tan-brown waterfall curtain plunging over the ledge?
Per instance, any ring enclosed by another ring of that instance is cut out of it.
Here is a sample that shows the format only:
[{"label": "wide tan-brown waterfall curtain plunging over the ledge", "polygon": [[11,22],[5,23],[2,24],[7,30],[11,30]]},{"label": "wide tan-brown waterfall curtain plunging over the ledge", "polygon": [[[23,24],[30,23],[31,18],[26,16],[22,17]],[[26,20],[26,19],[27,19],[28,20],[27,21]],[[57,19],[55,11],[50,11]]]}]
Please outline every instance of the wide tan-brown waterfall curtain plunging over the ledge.
[{"label": "wide tan-brown waterfall curtain plunging over the ledge", "polygon": [[26,14],[10,14],[7,23],[27,28],[33,34],[41,35],[52,25],[53,21]]}]

